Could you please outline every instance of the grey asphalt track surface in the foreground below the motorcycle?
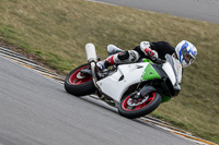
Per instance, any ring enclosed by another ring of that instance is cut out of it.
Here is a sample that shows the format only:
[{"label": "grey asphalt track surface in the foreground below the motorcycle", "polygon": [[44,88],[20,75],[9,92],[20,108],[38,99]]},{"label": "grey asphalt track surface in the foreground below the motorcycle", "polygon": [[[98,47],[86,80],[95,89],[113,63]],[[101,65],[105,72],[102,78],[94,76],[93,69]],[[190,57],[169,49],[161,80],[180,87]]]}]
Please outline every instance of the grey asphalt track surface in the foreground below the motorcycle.
[{"label": "grey asphalt track surface in the foreground below the motorcycle", "polygon": [[189,145],[0,57],[0,145]]}]

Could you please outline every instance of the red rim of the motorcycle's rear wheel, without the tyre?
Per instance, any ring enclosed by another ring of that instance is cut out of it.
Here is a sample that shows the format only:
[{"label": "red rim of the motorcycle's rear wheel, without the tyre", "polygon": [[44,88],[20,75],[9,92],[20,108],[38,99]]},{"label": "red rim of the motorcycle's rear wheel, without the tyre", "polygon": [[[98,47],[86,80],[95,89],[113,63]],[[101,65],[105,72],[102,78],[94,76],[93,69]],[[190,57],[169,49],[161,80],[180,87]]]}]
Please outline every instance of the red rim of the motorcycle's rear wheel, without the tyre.
[{"label": "red rim of the motorcycle's rear wheel, without the tyre", "polygon": [[81,70],[87,69],[87,68],[89,67],[87,65],[87,67],[80,68],[76,72],[73,72],[69,77],[69,83],[72,85],[80,85],[80,84],[84,84],[92,81],[91,75],[87,75],[80,72]]}]

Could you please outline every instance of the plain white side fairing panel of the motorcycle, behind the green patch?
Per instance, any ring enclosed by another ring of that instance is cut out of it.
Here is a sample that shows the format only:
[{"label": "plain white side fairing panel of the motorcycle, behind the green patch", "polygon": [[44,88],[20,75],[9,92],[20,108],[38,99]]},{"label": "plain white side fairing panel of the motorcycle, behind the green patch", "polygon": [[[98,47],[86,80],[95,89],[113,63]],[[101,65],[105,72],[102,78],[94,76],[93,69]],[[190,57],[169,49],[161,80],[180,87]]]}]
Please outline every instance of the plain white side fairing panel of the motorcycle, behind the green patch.
[{"label": "plain white side fairing panel of the motorcycle, behind the green patch", "polygon": [[114,74],[97,81],[96,84],[101,87],[103,93],[119,102],[128,87],[142,80],[142,73],[148,65],[148,62],[118,65]]}]

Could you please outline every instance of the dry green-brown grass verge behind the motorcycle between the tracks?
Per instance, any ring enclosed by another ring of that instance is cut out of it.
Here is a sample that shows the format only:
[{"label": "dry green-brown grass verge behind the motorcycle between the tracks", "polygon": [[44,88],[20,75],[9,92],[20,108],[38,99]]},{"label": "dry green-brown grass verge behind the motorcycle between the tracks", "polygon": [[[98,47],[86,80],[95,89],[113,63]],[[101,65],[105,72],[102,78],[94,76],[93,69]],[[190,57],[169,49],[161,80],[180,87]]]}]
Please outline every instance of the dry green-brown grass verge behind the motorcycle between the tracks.
[{"label": "dry green-brown grass verge behind the motorcycle between the tracks", "polygon": [[0,3],[0,39],[65,74],[87,62],[87,43],[105,58],[108,44],[132,49],[141,40],[192,41],[198,57],[184,71],[180,96],[153,116],[219,143],[219,25],[83,0]]}]

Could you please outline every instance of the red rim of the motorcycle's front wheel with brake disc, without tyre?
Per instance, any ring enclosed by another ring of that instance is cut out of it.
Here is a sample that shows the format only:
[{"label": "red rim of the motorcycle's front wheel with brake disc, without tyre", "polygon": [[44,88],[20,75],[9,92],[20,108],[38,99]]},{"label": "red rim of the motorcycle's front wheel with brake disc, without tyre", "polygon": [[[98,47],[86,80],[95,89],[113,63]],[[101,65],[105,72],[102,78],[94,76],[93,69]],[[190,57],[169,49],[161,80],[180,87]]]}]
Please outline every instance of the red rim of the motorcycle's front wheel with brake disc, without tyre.
[{"label": "red rim of the motorcycle's front wheel with brake disc, without tyre", "polygon": [[139,110],[148,105],[150,105],[155,98],[155,93],[150,93],[148,96],[143,98],[139,98],[138,100],[134,100],[130,96],[128,96],[122,104],[122,108],[126,111],[135,111]]}]

